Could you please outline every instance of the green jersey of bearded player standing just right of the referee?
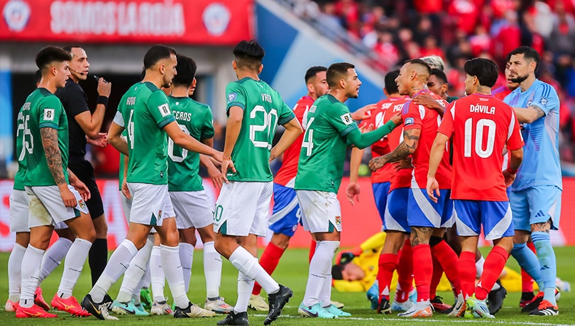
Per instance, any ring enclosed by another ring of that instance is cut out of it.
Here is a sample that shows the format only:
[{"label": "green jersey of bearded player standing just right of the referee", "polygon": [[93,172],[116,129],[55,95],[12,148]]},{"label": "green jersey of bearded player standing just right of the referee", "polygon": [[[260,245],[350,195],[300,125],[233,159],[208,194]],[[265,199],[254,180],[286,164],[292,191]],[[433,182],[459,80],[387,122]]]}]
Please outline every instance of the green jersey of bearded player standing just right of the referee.
[{"label": "green jersey of bearded player standing just right of the referee", "polygon": [[168,184],[168,135],[162,128],[175,119],[165,93],[150,82],[139,82],[124,94],[118,111],[122,121],[114,122],[125,123],[128,130],[127,181]]}]

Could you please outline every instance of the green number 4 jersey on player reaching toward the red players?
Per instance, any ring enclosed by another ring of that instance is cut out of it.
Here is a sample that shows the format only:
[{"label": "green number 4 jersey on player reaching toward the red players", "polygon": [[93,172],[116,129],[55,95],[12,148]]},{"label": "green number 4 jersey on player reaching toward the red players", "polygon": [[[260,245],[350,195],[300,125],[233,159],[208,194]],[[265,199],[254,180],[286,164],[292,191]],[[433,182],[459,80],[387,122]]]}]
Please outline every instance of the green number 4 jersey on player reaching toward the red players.
[{"label": "green number 4 jersey on player reaching toward the red players", "polygon": [[294,189],[337,193],[344,176],[346,135],[358,127],[347,106],[331,94],[314,102],[304,125]]}]

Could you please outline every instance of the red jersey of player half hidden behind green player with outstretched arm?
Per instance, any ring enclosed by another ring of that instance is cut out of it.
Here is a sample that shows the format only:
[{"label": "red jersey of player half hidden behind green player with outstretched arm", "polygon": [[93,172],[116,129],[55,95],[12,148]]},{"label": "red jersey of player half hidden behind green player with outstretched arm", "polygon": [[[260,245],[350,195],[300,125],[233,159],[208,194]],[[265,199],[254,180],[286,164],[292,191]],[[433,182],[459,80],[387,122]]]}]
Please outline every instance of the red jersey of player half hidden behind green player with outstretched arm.
[{"label": "red jersey of player half hidden behind green player with outstretched arm", "polygon": [[[313,103],[314,99],[312,99],[310,96],[303,96],[297,101],[297,103],[295,103],[295,106],[293,107],[295,118],[300,121],[302,127],[304,127],[302,123],[303,117],[307,111],[310,110]],[[297,137],[295,142],[293,142],[292,145],[290,145],[290,147],[288,147],[288,149],[283,152],[282,167],[280,167],[278,174],[276,174],[275,178],[273,179],[275,184],[293,188],[295,175],[297,174],[297,163],[300,161],[303,136],[304,133]]]}]

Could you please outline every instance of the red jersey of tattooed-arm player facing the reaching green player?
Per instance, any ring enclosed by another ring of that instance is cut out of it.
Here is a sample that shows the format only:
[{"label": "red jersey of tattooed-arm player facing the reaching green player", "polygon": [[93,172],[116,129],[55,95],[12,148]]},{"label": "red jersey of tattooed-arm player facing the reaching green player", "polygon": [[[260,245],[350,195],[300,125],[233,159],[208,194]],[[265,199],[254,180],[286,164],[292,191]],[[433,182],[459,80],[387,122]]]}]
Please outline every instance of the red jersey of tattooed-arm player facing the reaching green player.
[{"label": "red jersey of tattooed-arm player facing the reaching green player", "polygon": [[[424,89],[418,94],[430,94],[435,101],[442,106],[447,107],[449,103],[439,95]],[[413,176],[417,187],[425,189],[427,186],[427,171],[429,170],[429,152],[437,135],[437,128],[441,123],[441,116],[437,111],[431,110],[425,106],[417,105],[412,101],[407,102],[403,108],[403,129],[420,129],[420,140],[417,149],[412,154],[412,164],[414,167]],[[451,166],[449,165],[449,146],[446,146],[442,162],[439,164],[435,176],[439,183],[439,189],[451,188]]]}]

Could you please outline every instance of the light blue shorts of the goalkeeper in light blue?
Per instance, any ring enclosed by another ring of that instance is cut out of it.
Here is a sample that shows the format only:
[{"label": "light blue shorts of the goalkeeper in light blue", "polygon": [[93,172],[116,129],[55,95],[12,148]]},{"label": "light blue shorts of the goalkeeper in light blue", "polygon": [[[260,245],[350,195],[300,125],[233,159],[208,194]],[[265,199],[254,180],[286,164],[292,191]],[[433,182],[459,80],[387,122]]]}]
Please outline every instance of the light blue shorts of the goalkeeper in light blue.
[{"label": "light blue shorts of the goalkeeper in light blue", "polygon": [[531,231],[531,225],[551,219],[551,230],[559,229],[562,190],[557,186],[532,186],[509,196],[515,230]]}]

